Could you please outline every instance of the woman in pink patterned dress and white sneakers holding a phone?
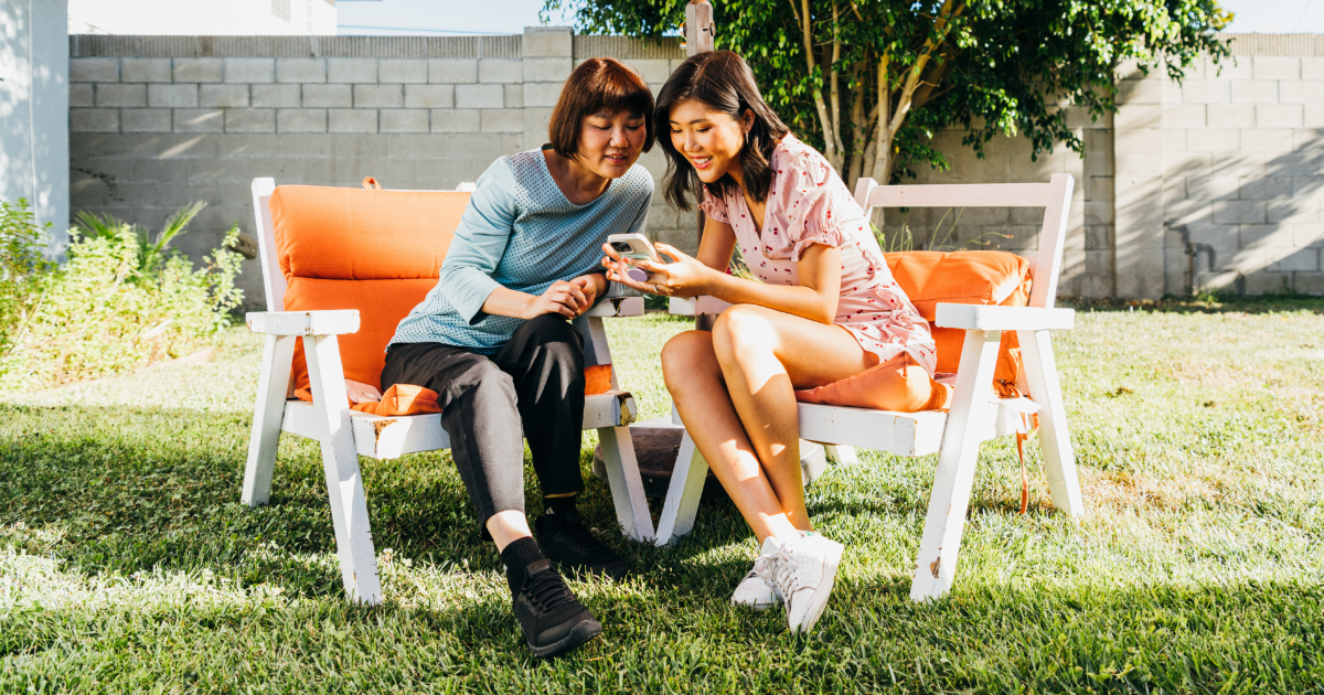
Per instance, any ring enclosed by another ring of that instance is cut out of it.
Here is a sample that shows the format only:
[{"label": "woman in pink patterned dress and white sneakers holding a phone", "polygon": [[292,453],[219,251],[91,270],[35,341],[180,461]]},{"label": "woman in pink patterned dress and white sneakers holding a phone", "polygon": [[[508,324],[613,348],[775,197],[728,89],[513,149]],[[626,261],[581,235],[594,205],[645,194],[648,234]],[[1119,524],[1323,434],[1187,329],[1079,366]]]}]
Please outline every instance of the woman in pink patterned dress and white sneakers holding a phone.
[{"label": "woman in pink patterned dress and white sneakers holding a phone", "polygon": [[[863,210],[813,148],[764,103],[735,53],[681,64],[658,97],[667,200],[707,214],[698,258],[665,244],[670,263],[633,262],[629,279],[604,246],[608,277],[669,297],[731,302],[712,332],[687,331],[662,351],[681,417],[761,541],[732,602],[785,601],[792,630],[810,630],[831,593],[842,545],[813,531],[800,473],[796,389],[880,363],[935,367],[928,324],[892,281]],[[665,128],[665,130],[663,130]],[[740,245],[763,282],[726,273]]]}]

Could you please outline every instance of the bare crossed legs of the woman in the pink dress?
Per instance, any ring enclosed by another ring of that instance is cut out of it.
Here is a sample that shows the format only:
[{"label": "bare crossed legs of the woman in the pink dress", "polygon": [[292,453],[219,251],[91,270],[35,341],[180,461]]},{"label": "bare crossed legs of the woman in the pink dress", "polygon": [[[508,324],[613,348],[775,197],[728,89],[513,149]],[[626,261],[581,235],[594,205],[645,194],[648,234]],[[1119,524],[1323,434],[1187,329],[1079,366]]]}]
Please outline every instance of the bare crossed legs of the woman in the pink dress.
[{"label": "bare crossed legs of the woman in the pink dress", "polygon": [[[745,311],[751,308],[771,316],[759,324],[755,319],[763,315]],[[662,351],[662,373],[695,445],[759,540],[790,540],[797,528],[812,528],[800,478],[800,422],[792,388],[859,373],[873,357],[850,334],[833,326],[748,306],[732,307],[727,315],[749,319],[737,326],[751,335],[732,339],[731,320],[719,320],[724,328],[712,334],[681,334]],[[782,343],[797,348],[779,351]],[[727,364],[719,360],[716,344],[723,346]],[[782,359],[792,363],[789,372]],[[755,383],[757,393],[749,387]],[[740,409],[741,402],[747,410]]]}]

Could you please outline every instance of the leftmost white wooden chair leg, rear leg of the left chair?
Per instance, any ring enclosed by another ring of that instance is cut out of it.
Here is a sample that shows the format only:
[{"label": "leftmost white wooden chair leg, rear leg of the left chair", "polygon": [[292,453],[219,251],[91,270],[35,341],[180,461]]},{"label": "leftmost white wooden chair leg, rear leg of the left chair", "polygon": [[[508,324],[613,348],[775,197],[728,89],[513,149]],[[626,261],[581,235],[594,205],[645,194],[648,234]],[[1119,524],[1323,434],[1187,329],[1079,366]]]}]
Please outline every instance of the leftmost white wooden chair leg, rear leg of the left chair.
[{"label": "leftmost white wooden chair leg, rear leg of the left chair", "polygon": [[262,372],[257,381],[253,406],[253,432],[249,434],[248,463],[244,465],[244,492],[240,500],[249,507],[271,499],[271,471],[281,443],[281,421],[285,418],[285,389],[294,360],[293,335],[267,335],[262,344]]}]

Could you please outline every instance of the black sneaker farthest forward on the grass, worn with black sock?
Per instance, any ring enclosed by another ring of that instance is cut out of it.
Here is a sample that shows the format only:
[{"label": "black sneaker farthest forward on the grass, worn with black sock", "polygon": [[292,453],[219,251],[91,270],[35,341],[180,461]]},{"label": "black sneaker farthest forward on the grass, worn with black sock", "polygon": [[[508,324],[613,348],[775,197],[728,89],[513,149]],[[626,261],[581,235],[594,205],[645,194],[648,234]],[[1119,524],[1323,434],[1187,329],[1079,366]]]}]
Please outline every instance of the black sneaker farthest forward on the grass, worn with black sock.
[{"label": "black sneaker farthest forward on the grass, worn with black sock", "polygon": [[524,568],[515,620],[535,657],[556,657],[602,634],[602,624],[580,604],[547,560]]}]

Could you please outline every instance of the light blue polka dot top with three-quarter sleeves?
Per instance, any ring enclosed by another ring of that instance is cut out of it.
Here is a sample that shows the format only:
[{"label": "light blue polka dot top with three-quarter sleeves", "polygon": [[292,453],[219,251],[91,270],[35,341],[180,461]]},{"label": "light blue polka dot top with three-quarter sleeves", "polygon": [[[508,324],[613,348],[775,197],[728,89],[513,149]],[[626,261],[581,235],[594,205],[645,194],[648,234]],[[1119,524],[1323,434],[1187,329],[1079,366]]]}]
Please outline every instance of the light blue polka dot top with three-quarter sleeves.
[{"label": "light blue polka dot top with three-quarter sleeves", "polygon": [[575,205],[540,150],[503,156],[478,189],[441,262],[441,277],[391,344],[446,343],[495,355],[524,319],[482,310],[498,286],[543,294],[553,282],[602,271],[608,234],[643,233],[653,176],[636,164],[597,200]]}]

